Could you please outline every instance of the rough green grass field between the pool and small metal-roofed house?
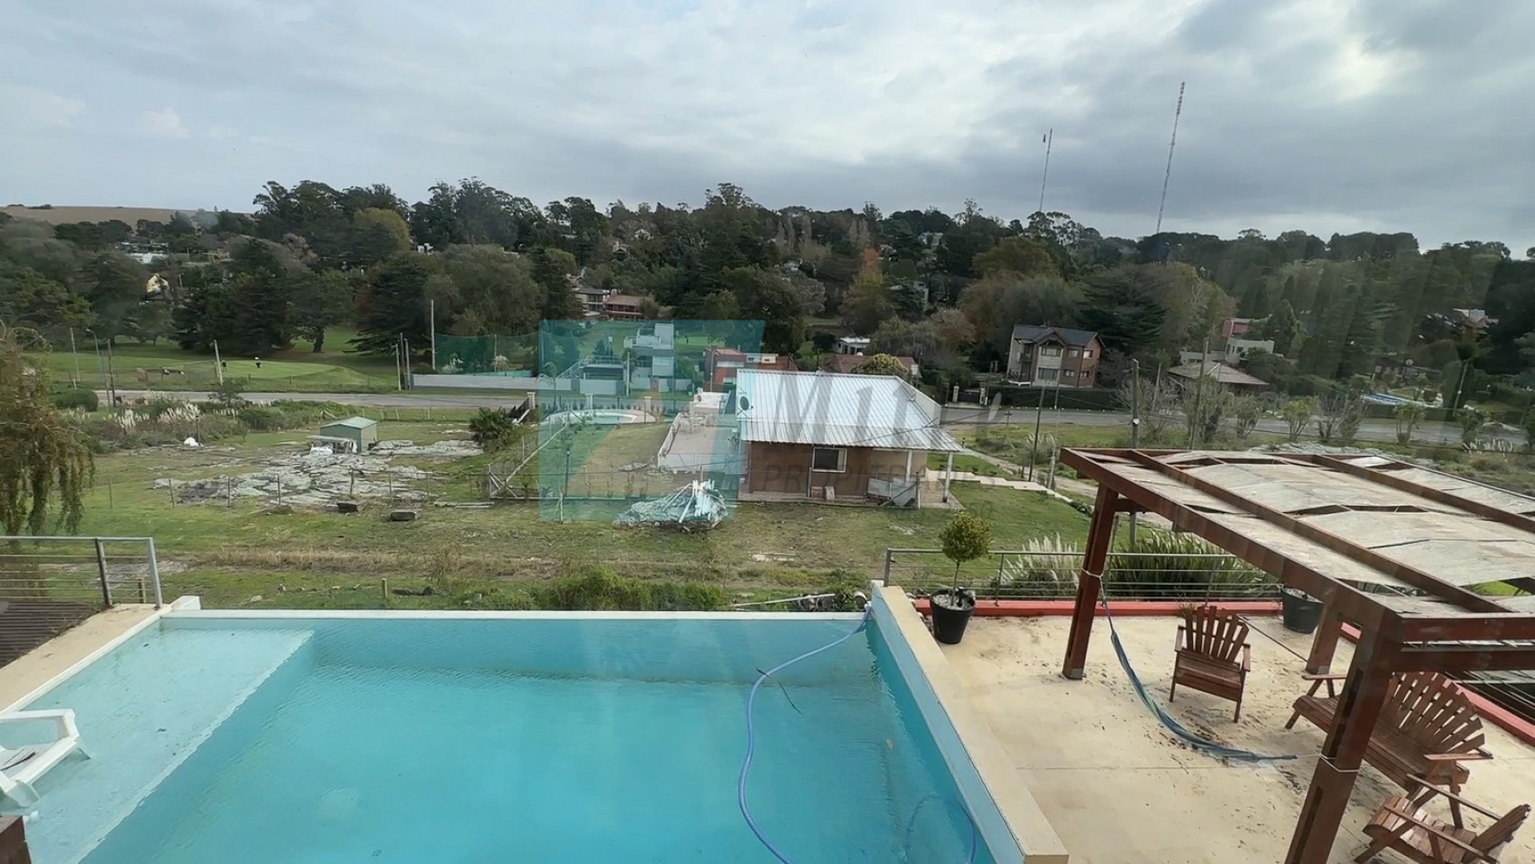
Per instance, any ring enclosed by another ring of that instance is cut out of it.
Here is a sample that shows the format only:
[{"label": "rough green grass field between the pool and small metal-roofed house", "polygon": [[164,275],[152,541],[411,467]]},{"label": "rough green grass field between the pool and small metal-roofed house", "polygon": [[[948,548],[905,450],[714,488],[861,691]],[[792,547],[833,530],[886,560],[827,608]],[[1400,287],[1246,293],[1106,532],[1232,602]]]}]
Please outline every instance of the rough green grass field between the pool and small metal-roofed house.
[{"label": "rough green grass field between the pool and small metal-roofed house", "polygon": [[[457,427],[457,428],[454,428]],[[642,451],[663,427],[620,428],[583,468],[619,463]],[[103,456],[86,497],[80,533],[152,536],[166,569],[167,592],[196,592],[210,606],[272,608],[384,603],[379,580],[399,586],[444,586],[503,579],[548,579],[583,563],[605,563],[623,575],[708,580],[732,592],[786,595],[829,583],[861,582],[883,572],[886,548],[936,548],[946,509],[741,503],[732,519],[701,534],[614,528],[611,522],[539,519],[537,503],[487,509],[424,506],[418,522],[384,520],[385,503],[361,514],[266,513],[266,505],[170,503],[158,477],[192,480],[255,470],[266,457],[293,453],[309,430],[250,434],[203,450],[149,448]],[[462,422],[387,420],[382,439],[416,442],[462,436]],[[628,453],[634,450],[634,453]],[[434,497],[476,500],[488,457],[398,457],[433,474],[416,483]],[[1062,534],[1082,542],[1087,519],[1035,493],[955,483],[955,497],[985,517],[998,546]],[[935,563],[942,559],[929,556]],[[261,595],[252,603],[250,599]],[[441,603],[396,599],[399,603]]]}]

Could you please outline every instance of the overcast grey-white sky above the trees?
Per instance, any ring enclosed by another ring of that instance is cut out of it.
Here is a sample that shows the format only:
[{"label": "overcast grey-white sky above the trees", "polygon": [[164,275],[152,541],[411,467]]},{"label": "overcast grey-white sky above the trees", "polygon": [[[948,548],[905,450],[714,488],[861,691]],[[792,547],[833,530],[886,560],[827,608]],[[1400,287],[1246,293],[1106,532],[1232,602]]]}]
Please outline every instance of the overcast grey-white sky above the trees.
[{"label": "overcast grey-white sky above the trees", "polygon": [[[445,11],[436,11],[436,9]],[[451,9],[451,11],[447,11]],[[0,203],[267,180],[1535,246],[1527,0],[11,0]]]}]

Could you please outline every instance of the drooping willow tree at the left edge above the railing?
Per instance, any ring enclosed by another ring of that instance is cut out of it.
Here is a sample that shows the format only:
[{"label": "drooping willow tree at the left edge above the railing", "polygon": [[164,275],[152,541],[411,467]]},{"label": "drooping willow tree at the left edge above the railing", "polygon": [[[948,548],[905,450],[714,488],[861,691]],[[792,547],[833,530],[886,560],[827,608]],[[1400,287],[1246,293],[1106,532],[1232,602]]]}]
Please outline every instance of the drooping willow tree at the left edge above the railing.
[{"label": "drooping willow tree at the left edge above the railing", "polygon": [[46,351],[37,333],[0,325],[0,528],[41,534],[80,526],[81,499],[95,473],[84,437],[54,407],[48,370],[21,348]]}]

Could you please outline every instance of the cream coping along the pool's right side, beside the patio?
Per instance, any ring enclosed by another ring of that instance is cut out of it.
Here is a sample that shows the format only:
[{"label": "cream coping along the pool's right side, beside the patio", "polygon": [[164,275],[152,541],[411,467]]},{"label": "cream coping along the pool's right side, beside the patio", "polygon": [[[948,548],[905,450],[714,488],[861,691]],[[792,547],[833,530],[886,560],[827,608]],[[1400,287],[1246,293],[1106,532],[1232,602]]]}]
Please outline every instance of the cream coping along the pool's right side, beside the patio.
[{"label": "cream coping along the pool's right side, beside the patio", "polygon": [[[916,606],[901,588],[878,580],[870,582],[870,597],[875,605],[889,611],[889,618],[895,625],[892,635],[898,634],[910,649],[918,672],[936,697],[936,707],[958,735],[959,746],[992,796],[992,806],[1002,816],[1025,864],[1067,864],[1065,843],[1018,775],[992,727],[970,707],[964,684],[927,632]],[[918,700],[918,707],[921,703],[923,700]]]}]

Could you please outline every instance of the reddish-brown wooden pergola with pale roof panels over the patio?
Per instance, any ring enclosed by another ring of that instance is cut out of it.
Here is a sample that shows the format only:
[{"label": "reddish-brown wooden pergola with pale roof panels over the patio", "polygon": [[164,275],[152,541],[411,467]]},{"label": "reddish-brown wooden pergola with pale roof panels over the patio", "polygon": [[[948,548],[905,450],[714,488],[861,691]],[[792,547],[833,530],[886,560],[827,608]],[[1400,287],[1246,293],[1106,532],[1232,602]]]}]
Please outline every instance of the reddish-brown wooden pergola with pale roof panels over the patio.
[{"label": "reddish-brown wooden pergola with pale roof panels over the patio", "polygon": [[1395,672],[1535,669],[1535,499],[1377,456],[1064,450],[1098,483],[1067,638],[1081,678],[1121,513],[1154,513],[1326,605],[1306,661],[1360,629],[1286,864],[1328,859]]}]

